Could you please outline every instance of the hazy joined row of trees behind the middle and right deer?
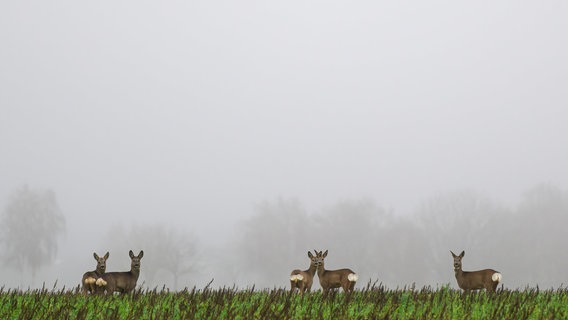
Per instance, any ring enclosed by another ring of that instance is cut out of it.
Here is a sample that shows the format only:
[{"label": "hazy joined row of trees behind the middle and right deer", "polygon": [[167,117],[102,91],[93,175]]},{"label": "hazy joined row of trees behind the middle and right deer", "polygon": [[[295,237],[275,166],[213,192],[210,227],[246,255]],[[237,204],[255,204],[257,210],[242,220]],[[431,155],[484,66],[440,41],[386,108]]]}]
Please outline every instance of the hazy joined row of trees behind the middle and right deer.
[{"label": "hazy joined row of trees behind the middle and right deer", "polygon": [[263,286],[307,266],[306,251],[315,248],[329,249],[328,268],[348,266],[360,281],[390,287],[455,285],[450,250],[468,252],[464,270],[500,270],[507,287],[559,287],[568,280],[566,225],[567,193],[548,184],[525,192],[514,208],[460,190],[404,216],[366,199],[313,213],[299,200],[278,199],[243,222],[235,251],[241,276]]}]

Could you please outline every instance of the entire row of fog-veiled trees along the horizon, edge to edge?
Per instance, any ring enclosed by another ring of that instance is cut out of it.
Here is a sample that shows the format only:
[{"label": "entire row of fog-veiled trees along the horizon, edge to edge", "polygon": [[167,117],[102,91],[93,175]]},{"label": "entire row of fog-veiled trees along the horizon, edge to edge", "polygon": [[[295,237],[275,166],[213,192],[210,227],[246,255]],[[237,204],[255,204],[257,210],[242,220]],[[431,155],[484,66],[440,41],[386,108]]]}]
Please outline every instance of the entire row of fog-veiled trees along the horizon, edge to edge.
[{"label": "entire row of fog-veiled trees along the horizon, edge to edge", "polygon": [[[492,267],[503,274],[506,287],[559,287],[568,276],[566,225],[566,191],[542,184],[514,207],[459,190],[426,199],[406,215],[371,199],[340,201],[314,212],[298,199],[276,199],[256,205],[223,248],[207,247],[191,233],[159,223],[113,226],[93,246],[111,250],[110,259],[143,249],[144,284],[173,290],[213,278],[220,285],[289,286],[290,271],[307,267],[306,253],[314,249],[329,250],[328,269],[352,268],[359,285],[368,280],[389,287],[455,286],[450,250],[465,250],[464,270]],[[33,282],[57,255],[65,217],[53,191],[22,187],[4,208],[0,230],[2,262],[19,270],[22,279],[31,274]],[[77,283],[85,270],[77,270]]]}]

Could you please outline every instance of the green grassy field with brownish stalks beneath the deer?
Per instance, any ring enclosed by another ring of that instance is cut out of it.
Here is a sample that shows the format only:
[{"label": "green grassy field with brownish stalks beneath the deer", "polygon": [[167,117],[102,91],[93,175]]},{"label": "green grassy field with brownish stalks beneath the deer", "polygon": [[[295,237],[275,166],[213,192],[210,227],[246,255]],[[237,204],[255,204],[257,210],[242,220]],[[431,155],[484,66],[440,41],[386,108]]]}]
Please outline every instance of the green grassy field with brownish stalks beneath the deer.
[{"label": "green grassy field with brownish stalks beneath the deer", "polygon": [[463,294],[447,287],[351,295],[237,288],[83,296],[77,290],[0,289],[0,319],[567,319],[568,289]]}]

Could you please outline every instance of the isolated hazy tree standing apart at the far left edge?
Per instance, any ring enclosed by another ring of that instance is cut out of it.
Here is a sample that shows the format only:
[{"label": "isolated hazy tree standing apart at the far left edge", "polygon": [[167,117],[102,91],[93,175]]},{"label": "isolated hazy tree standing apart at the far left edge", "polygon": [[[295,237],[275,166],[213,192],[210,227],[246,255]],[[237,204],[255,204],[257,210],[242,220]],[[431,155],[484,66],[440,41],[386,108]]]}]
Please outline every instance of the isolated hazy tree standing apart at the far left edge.
[{"label": "isolated hazy tree standing apart at the far left edge", "polygon": [[53,262],[57,238],[65,232],[65,217],[55,193],[32,190],[27,186],[14,192],[0,220],[2,260],[6,265],[31,271],[31,283],[37,271]]}]

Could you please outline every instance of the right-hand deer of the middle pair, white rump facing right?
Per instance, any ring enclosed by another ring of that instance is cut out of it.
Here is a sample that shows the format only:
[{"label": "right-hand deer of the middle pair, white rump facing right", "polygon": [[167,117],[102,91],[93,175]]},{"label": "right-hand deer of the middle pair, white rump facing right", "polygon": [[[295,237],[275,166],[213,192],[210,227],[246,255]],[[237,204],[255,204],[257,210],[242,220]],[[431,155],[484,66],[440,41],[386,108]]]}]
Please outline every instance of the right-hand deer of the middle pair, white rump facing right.
[{"label": "right-hand deer of the middle pair, white rump facing right", "polygon": [[351,269],[325,270],[324,259],[327,257],[327,250],[323,254],[321,251],[316,253],[317,273],[324,295],[339,287],[345,292],[353,292],[359,276]]}]

